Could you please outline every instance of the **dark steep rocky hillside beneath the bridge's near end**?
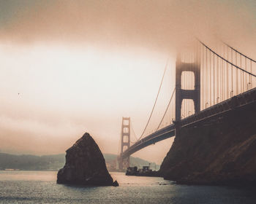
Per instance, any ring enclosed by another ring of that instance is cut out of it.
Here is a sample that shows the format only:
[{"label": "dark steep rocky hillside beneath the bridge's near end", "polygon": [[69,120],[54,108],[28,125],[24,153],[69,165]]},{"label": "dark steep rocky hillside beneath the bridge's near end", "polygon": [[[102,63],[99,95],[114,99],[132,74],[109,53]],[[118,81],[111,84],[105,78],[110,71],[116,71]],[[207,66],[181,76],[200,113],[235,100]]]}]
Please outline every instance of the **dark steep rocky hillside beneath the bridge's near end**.
[{"label": "dark steep rocky hillside beneath the bridge's near end", "polygon": [[255,185],[256,104],[181,129],[160,173],[180,184]]}]

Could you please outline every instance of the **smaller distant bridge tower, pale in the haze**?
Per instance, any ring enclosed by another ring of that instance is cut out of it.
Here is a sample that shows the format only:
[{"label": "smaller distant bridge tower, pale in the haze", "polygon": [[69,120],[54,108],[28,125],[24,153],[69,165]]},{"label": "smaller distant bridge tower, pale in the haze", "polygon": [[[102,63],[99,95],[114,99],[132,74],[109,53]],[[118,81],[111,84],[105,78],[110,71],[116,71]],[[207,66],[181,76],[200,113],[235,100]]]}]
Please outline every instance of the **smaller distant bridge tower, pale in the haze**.
[{"label": "smaller distant bridge tower, pale in the haze", "polygon": [[[121,155],[130,146],[130,127],[130,118],[123,117],[121,123]],[[120,170],[129,167],[129,157],[123,158],[121,156],[118,165]]]}]

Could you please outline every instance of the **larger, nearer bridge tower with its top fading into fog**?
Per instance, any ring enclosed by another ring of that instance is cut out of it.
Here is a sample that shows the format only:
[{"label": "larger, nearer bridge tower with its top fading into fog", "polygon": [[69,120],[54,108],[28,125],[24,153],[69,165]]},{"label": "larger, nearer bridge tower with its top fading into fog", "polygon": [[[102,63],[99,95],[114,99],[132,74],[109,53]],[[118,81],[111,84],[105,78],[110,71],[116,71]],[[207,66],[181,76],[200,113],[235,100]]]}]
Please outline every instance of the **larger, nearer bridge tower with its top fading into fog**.
[{"label": "larger, nearer bridge tower with its top fading into fog", "polygon": [[[181,89],[181,74],[183,71],[192,71],[195,76],[194,90]],[[184,99],[194,101],[195,113],[200,111],[200,53],[197,51],[192,63],[181,61],[181,55],[176,58],[176,123],[181,120],[181,103]]]}]

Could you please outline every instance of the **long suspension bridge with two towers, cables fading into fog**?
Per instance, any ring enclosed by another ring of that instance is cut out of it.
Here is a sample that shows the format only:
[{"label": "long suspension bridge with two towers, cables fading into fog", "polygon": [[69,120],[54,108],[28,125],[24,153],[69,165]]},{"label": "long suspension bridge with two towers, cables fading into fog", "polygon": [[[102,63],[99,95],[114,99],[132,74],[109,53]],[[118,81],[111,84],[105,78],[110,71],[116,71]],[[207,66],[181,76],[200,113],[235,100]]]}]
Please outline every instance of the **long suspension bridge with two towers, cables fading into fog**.
[{"label": "long suspension bridge with two towers, cables fading into fog", "polygon": [[135,136],[131,119],[123,117],[119,169],[129,166],[131,154],[178,136],[183,127],[197,127],[219,120],[234,109],[256,105],[256,61],[225,42],[219,42],[216,47],[200,40],[195,44],[176,56],[175,67],[171,69],[175,71],[175,85],[168,84],[167,90],[171,91],[161,99],[168,67],[165,66],[154,106],[140,137]]}]

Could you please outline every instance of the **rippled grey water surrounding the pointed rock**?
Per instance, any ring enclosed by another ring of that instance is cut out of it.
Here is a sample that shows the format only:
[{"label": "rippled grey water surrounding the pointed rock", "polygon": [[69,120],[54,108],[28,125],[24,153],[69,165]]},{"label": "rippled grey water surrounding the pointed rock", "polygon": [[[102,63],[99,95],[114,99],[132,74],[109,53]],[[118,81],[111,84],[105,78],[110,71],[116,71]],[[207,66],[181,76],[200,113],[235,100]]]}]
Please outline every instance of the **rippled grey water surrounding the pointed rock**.
[{"label": "rippled grey water surrounding the pointed rock", "polygon": [[56,184],[57,172],[0,171],[0,203],[256,203],[254,189],[186,186],[111,173],[120,187]]}]

